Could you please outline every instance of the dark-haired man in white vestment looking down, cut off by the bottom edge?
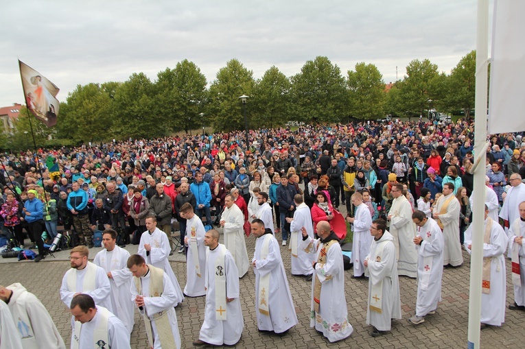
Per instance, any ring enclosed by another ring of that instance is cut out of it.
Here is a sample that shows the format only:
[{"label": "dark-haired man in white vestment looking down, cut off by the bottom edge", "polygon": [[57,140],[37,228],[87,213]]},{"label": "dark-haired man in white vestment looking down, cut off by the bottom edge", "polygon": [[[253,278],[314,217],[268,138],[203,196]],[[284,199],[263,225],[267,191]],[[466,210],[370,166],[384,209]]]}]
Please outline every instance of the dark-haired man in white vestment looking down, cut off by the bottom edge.
[{"label": "dark-haired man in white vestment looking down, cut off by the bottom edge", "polygon": [[104,306],[95,305],[91,296],[73,297],[71,315],[71,349],[131,349],[126,326]]}]

